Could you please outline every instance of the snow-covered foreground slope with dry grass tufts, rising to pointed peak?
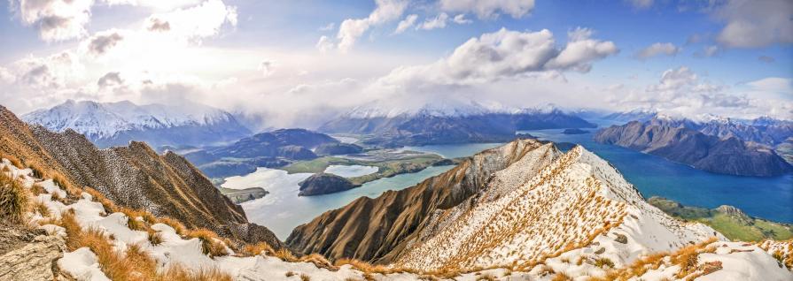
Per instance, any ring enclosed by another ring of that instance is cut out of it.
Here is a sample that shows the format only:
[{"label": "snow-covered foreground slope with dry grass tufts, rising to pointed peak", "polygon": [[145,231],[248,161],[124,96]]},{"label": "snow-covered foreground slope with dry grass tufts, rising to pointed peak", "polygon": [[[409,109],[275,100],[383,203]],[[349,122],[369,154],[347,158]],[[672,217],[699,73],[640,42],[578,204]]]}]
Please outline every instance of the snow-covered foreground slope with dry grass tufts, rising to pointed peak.
[{"label": "snow-covered foreground slope with dry grass tufts, rising to pointed peak", "polygon": [[[703,224],[666,216],[644,202],[609,163],[584,148],[562,153],[546,144],[518,150],[525,153],[494,172],[474,198],[439,210],[431,218],[434,226],[424,228],[421,240],[409,245],[398,262],[376,269],[356,262],[331,265],[319,257],[287,258],[267,250],[237,252],[222,239],[211,243],[226,254],[211,256],[202,250],[206,241],[172,224],[123,212],[108,214],[100,200],[85,192],[79,199],[64,200],[69,195],[52,179],[35,178],[32,170],[6,159],[0,161],[0,172],[18,178],[35,194],[32,200],[46,206],[31,209],[27,218],[48,235],[70,239],[67,233],[75,232],[62,221],[74,216],[82,232],[101,233],[114,251],[127,253],[120,258],[137,253],[130,252],[136,248],[159,271],[175,266],[193,272],[218,270],[246,281],[793,278],[781,263],[790,259],[789,242],[728,242]],[[72,247],[53,264],[76,280],[110,280],[103,264],[107,261],[99,258],[103,254],[107,256],[92,247]]]}]

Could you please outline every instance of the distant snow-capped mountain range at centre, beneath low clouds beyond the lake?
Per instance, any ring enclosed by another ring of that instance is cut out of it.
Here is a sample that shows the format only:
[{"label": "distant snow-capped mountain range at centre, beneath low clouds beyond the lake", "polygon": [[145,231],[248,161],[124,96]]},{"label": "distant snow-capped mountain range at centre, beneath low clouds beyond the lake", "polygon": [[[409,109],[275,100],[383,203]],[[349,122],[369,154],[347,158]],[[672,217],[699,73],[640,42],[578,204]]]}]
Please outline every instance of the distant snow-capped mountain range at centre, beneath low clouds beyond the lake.
[{"label": "distant snow-capped mountain range at centre, beneath low clouds beyond the lake", "polygon": [[519,130],[594,128],[556,107],[509,109],[470,102],[426,104],[416,110],[359,107],[318,128],[324,133],[371,135],[363,143],[384,147],[467,142],[504,142]]}]

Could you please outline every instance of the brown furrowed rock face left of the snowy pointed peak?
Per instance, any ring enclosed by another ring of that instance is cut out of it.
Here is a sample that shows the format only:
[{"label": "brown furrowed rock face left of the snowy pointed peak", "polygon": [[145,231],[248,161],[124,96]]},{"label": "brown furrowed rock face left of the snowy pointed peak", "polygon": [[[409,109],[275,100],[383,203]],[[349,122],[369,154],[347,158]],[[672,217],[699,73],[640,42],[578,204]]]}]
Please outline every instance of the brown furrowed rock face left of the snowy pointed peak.
[{"label": "brown furrowed rock face left of the snowy pointed peak", "polygon": [[359,198],[298,226],[286,243],[304,254],[393,262],[408,242],[422,239],[417,237],[422,229],[437,226],[430,219],[433,213],[468,200],[486,185],[494,171],[504,169],[540,145],[533,140],[513,141],[480,152],[416,186],[388,191],[374,199]]}]

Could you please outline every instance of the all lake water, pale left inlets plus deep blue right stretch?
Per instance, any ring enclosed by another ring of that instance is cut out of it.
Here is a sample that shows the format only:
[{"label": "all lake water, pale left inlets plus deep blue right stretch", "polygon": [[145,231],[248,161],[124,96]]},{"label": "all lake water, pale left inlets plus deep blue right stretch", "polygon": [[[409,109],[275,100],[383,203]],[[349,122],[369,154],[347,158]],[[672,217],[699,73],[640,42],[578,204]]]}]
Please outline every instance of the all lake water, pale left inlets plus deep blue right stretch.
[{"label": "all lake water, pale left inlets plus deep blue right stretch", "polygon": [[[595,129],[587,129],[595,131]],[[775,178],[737,177],[699,171],[688,165],[673,163],[618,146],[592,141],[592,133],[567,135],[563,130],[524,131],[548,141],[579,143],[614,164],[646,198],[663,196],[685,205],[716,208],[733,205],[750,216],[793,223],[793,175]],[[437,153],[447,158],[470,156],[495,148],[499,143],[472,143],[407,147],[405,150]],[[334,167],[331,171],[359,175],[374,167]],[[386,190],[400,190],[448,171],[452,166],[430,167],[424,171],[381,178],[361,187],[337,194],[299,197],[298,183],[309,173],[289,175],[286,171],[259,168],[242,176],[227,178],[223,187],[260,186],[270,194],[242,204],[251,222],[267,226],[279,239],[286,239],[294,227],[306,224],[330,209],[338,209],[360,196],[377,197]]]}]

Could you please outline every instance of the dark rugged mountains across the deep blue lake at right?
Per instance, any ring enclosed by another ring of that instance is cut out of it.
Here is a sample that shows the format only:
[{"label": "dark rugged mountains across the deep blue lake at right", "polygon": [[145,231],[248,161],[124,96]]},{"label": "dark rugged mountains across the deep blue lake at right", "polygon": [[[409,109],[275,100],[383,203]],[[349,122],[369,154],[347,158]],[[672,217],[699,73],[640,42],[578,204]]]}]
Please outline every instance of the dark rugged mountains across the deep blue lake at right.
[{"label": "dark rugged mountains across the deep blue lake at right", "polygon": [[735,137],[720,139],[653,120],[610,126],[596,133],[595,141],[662,156],[704,171],[758,177],[793,171],[793,166],[771,148]]}]

